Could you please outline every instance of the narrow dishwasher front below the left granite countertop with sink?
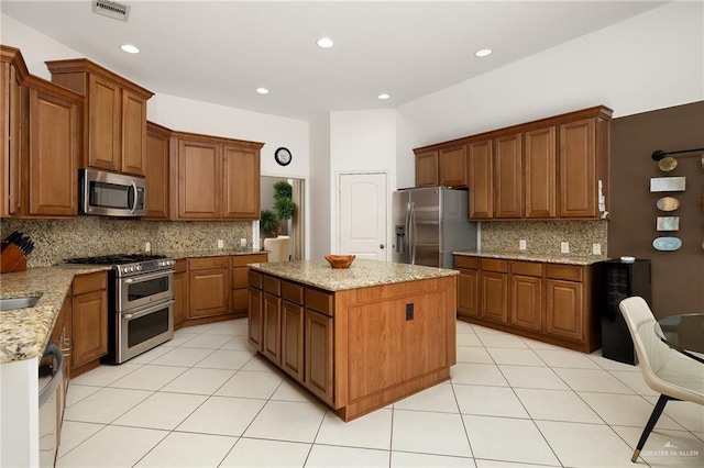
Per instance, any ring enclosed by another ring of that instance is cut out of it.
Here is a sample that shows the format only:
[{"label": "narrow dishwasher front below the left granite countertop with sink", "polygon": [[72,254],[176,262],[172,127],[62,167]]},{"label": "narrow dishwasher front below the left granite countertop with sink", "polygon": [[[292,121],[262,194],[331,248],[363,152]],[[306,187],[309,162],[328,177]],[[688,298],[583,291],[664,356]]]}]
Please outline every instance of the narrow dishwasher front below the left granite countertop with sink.
[{"label": "narrow dishwasher front below the left granite countertop with sink", "polygon": [[48,345],[40,360],[40,467],[53,467],[58,449],[58,415],[64,357],[56,345]]}]

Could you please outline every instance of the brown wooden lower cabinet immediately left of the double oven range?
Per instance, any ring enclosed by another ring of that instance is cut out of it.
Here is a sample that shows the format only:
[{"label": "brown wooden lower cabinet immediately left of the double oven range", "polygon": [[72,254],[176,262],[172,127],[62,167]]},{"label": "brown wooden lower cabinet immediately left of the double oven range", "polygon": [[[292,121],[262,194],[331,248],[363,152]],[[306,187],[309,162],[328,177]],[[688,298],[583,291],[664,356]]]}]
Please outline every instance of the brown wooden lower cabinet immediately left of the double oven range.
[{"label": "brown wooden lower cabinet immediately left of the double oven range", "polygon": [[74,278],[72,377],[100,365],[108,354],[108,277],[105,271]]}]

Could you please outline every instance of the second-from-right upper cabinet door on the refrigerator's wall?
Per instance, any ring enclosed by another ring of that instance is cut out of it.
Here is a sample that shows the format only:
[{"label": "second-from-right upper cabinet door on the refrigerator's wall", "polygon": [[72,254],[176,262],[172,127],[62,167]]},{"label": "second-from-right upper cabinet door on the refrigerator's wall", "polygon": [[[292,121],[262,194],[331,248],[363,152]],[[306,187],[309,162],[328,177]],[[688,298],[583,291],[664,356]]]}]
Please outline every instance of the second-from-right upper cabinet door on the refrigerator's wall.
[{"label": "second-from-right upper cabinet door on the refrigerator's wall", "polygon": [[525,133],[525,216],[557,215],[557,131],[554,125]]}]

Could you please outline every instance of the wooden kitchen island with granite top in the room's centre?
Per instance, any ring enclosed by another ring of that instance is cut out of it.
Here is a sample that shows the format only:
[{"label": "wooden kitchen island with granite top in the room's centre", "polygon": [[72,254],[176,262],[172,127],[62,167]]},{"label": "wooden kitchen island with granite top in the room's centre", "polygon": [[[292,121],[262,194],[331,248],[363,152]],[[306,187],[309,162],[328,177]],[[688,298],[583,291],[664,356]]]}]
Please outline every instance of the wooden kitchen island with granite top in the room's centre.
[{"label": "wooden kitchen island with granite top in the room's centre", "polygon": [[253,264],[249,341],[350,421],[450,378],[457,275],[366,259]]}]

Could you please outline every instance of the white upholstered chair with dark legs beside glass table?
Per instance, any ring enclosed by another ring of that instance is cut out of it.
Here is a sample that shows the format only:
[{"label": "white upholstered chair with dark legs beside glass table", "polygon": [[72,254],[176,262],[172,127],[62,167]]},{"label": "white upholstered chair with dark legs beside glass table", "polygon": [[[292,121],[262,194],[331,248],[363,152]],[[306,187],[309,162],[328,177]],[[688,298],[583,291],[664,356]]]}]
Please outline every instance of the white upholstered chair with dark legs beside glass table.
[{"label": "white upholstered chair with dark legs beside glass table", "polygon": [[634,338],[642,377],[660,393],[630,459],[635,463],[668,401],[704,404],[704,365],[670,348],[656,335],[656,317],[642,298],[624,299],[618,307]]}]

